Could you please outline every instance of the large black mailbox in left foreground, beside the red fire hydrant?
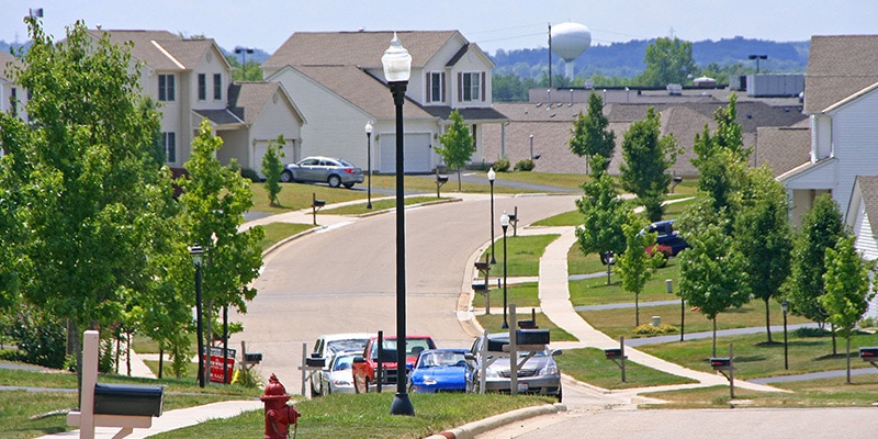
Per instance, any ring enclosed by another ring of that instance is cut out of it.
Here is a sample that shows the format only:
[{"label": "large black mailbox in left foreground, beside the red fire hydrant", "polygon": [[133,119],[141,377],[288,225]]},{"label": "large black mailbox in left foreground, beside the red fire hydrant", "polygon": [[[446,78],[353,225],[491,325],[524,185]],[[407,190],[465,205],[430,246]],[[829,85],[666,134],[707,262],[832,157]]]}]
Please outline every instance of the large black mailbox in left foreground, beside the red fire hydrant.
[{"label": "large black mailbox in left foreground, beside the red fire hydrant", "polygon": [[164,389],[153,385],[95,384],[98,415],[161,416]]}]

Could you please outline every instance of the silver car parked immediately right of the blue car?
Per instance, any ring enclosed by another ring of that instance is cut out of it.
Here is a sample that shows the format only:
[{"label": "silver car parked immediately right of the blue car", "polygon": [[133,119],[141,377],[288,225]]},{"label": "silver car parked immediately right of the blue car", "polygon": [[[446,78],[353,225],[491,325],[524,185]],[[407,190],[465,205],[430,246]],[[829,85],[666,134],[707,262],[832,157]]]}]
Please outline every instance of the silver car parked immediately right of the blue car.
[{"label": "silver car parked immediately right of the blue car", "polygon": [[[482,358],[482,346],[487,342],[487,354]],[[480,392],[480,373],[482,363],[487,364],[485,369],[485,391],[509,392],[511,385],[511,370],[509,368],[508,353],[502,352],[503,345],[509,344],[509,333],[488,334],[476,337],[470,349],[469,365],[472,368],[466,378],[466,391]],[[561,371],[555,363],[555,356],[560,356],[561,350],[549,350],[548,346],[533,352],[518,352],[518,392],[534,393],[540,395],[554,395],[561,401]],[[495,359],[495,357],[497,357]],[[522,362],[524,360],[524,362]],[[492,362],[493,361],[493,362]]]}]

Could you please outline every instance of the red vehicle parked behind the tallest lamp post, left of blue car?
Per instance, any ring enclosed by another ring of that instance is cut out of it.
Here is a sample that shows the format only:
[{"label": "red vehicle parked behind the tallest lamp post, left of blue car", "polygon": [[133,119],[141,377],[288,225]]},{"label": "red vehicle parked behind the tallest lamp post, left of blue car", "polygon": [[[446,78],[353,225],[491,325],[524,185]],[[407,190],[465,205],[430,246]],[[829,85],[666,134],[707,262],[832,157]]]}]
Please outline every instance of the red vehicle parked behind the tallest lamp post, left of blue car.
[{"label": "red vehicle parked behind the tallest lamp post, left of blue car", "polygon": [[[436,349],[436,344],[430,336],[406,336],[405,337],[405,365],[410,371],[415,367],[418,354],[427,349]],[[396,385],[396,336],[384,337],[382,346],[382,358],[378,356],[378,337],[372,337],[365,344],[362,357],[353,359],[353,389],[357,393],[367,393],[369,387],[378,384],[378,367],[381,363],[383,370],[381,376],[382,385]],[[406,378],[403,376],[403,381]]]}]

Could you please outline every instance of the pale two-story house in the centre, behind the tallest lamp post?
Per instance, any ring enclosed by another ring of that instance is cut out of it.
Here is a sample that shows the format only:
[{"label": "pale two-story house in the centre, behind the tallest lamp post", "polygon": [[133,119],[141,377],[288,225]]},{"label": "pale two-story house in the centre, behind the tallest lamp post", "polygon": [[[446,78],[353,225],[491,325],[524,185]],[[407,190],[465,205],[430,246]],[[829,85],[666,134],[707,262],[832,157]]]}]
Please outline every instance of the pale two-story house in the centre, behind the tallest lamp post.
[{"label": "pale two-story house in the centre, behind the tallest lamp post", "polygon": [[[397,35],[412,55],[403,108],[405,171],[441,165],[432,148],[454,109],[472,130],[472,161],[484,161],[483,127],[506,121],[492,108],[491,58],[457,31]],[[393,32],[297,32],[262,64],[266,80],[281,82],[308,121],[294,159],[336,156],[367,169],[371,156],[373,171],[394,172],[396,113],[381,64],[392,38]],[[367,122],[374,126],[369,137]]]}]

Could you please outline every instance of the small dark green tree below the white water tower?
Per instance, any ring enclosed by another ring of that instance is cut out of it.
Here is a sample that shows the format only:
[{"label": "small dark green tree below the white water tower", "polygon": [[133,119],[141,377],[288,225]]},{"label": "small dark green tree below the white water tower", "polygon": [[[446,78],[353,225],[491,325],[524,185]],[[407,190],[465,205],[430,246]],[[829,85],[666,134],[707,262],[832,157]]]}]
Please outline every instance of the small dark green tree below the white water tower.
[{"label": "small dark green tree below the white water tower", "polygon": [[573,121],[570,150],[579,157],[603,156],[606,170],[616,149],[616,133],[608,128],[609,124],[604,115],[604,99],[593,92],[588,95],[588,113],[579,113]]}]

